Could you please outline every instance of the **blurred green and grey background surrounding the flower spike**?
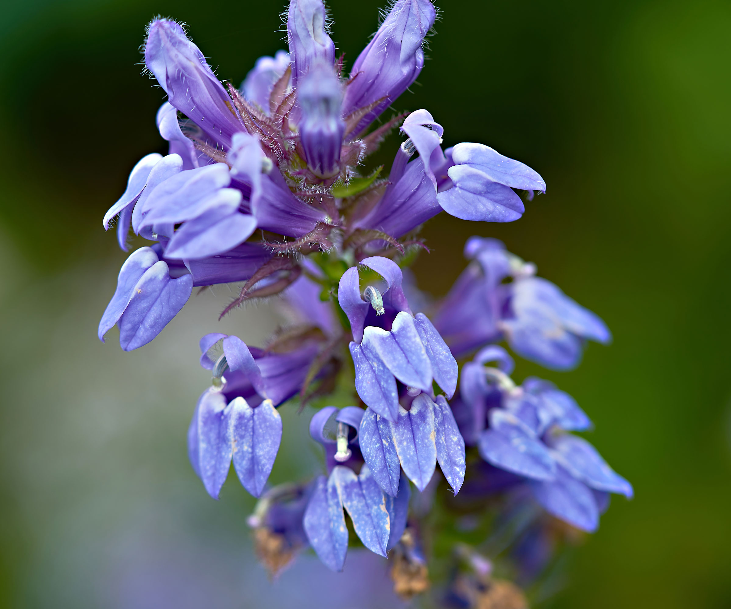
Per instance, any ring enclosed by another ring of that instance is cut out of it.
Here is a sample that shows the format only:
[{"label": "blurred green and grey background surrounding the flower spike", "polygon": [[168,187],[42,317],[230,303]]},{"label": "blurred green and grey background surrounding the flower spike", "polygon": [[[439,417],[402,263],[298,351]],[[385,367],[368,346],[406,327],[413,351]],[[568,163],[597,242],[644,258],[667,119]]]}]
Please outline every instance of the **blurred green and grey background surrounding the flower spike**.
[{"label": "blurred green and grey background surrounding the flower spike", "polygon": [[[379,2],[329,4],[352,63]],[[433,220],[420,287],[443,294],[465,239],[498,237],[615,338],[592,345],[577,371],[520,362],[515,375],[572,393],[596,423],[591,441],[636,491],[613,501],[552,606],[727,608],[731,3],[439,4],[431,60],[395,107],[427,107],[448,144],[478,141],[526,162],[548,194],[512,224]],[[137,352],[121,353],[114,332],[96,339],[125,258],[102,216],[137,159],[164,152],[163,93],[140,76],[145,23],[186,21],[219,77],[238,85],[258,56],[284,48],[281,8],[2,2],[1,606],[310,606],[297,592],[318,565],[303,559],[268,583],[251,559],[251,500],[229,483],[212,502],[185,454],[206,382],[197,338],[236,330],[262,341],[277,323],[268,306],[218,324],[223,290],[194,299]],[[292,410],[275,481],[317,469]],[[333,581],[328,602],[355,607],[357,590],[338,597]]]}]

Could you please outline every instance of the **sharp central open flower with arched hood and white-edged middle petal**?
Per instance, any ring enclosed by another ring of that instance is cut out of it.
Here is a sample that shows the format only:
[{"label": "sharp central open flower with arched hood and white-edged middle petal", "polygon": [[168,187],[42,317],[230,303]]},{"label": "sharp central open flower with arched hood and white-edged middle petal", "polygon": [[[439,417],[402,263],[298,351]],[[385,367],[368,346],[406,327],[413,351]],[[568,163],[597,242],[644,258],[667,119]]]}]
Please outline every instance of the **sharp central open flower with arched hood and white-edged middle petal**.
[{"label": "sharp central open flower with arched hood and white-edged middle petal", "polygon": [[361,292],[357,267],[349,268],[340,280],[338,302],[354,338],[349,347],[355,363],[355,388],[366,405],[395,422],[396,379],[425,393],[431,393],[436,380],[452,397],[457,386],[457,362],[429,319],[423,313],[412,317],[398,265],[377,256],[360,264],[379,273],[385,289],[371,285]]}]

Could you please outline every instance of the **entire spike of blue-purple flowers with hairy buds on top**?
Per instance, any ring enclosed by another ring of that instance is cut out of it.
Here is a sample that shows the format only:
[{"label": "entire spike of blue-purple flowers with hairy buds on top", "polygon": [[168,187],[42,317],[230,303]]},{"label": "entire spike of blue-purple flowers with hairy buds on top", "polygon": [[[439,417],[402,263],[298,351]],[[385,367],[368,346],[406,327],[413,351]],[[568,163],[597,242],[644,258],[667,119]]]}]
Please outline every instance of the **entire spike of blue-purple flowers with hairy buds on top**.
[{"label": "entire spike of blue-purple flowers with hairy buds on top", "polygon": [[[440,480],[452,501],[461,489],[468,499],[509,497],[506,513],[542,506],[585,531],[596,529],[607,493],[632,495],[591,445],[566,433],[590,425],[572,398],[539,379],[516,386],[512,359],[493,345],[572,368],[588,339],[610,340],[599,317],[477,237],[466,244],[468,268],[430,315],[409,306],[411,298],[420,309],[404,269],[425,249],[421,224],[442,211],[512,222],[523,200],[545,192],[538,173],[487,145],[444,149],[427,110],[380,120],[423,69],[436,16],[431,0],[396,0],[346,76],[322,0],[291,0],[289,52],[260,58],[240,88],[221,83],[181,24],[156,18],[144,58],[167,94],[157,126],[169,154],[140,159],[103,221],[106,230],[116,219],[125,251],[130,231],[152,243],[122,265],[102,341],[118,325],[122,349],[142,347],[197,286],[242,284],[221,315],[275,295],[296,311],[300,323],[263,348],[201,338],[212,382],[189,428],[191,464],[213,498],[231,464],[260,498],[249,523],[273,572],[307,545],[342,570],[347,515],[366,548],[394,561],[406,597],[429,586],[422,519]],[[366,171],[397,128],[406,139],[387,176]],[[480,348],[460,371],[457,360]],[[320,404],[348,383],[350,404],[311,419],[327,476],[271,487],[279,406]],[[455,548],[461,563],[486,560]],[[488,571],[459,581],[506,589]]]}]

